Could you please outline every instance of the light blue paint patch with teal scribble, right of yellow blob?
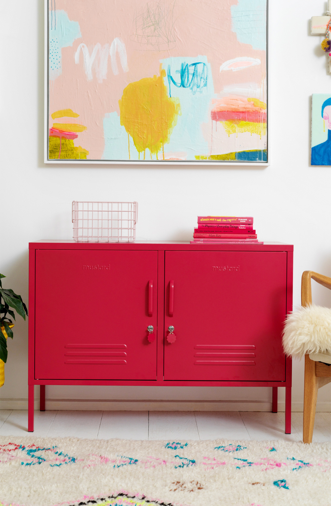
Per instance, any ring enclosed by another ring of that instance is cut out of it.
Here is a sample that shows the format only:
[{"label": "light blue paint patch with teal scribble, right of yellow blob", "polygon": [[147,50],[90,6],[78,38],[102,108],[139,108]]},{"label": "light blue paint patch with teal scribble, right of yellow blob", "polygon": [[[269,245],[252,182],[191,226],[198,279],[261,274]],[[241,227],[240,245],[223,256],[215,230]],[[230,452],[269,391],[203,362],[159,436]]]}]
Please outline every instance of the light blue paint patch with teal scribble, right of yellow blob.
[{"label": "light blue paint patch with teal scribble, right of yellow blob", "polygon": [[209,104],[215,97],[211,66],[206,56],[160,60],[166,72],[164,84],[169,97],[178,97],[181,115],[164,150],[187,153],[187,160],[208,151],[202,123],[209,121]]}]

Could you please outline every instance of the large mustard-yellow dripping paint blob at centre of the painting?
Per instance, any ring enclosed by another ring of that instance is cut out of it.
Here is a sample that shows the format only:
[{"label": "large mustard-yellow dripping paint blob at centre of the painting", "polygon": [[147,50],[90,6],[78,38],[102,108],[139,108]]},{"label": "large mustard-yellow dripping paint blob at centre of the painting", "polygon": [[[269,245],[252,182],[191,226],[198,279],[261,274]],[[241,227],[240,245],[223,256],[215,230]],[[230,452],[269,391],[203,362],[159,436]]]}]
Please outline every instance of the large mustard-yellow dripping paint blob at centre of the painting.
[{"label": "large mustard-yellow dripping paint blob at centre of the painting", "polygon": [[133,139],[140,155],[146,149],[156,154],[170,141],[174,126],[180,114],[177,97],[168,97],[164,84],[165,70],[160,66],[160,76],[145,77],[131,82],[123,90],[119,100],[121,125]]}]

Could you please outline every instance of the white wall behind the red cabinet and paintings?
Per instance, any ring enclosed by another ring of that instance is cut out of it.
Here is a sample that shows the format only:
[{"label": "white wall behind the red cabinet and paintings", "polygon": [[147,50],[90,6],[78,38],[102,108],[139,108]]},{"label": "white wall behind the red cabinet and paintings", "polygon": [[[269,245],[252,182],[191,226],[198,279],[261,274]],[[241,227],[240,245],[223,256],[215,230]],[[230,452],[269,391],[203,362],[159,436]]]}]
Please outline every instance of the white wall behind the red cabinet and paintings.
[{"label": "white wall behind the red cabinet and paintings", "polygon": [[[58,167],[42,162],[43,2],[3,3],[0,272],[8,276],[4,285],[27,301],[28,242],[70,239],[73,199],[137,200],[139,239],[189,240],[198,214],[254,216],[261,240],[294,244],[298,306],[304,270],[331,276],[331,167],[309,165],[310,97],[331,92],[326,58],[318,49],[321,37],[309,34],[310,17],[321,15],[322,9],[326,4],[310,0],[300,2],[300,8],[295,0],[270,0],[269,167]],[[318,304],[331,305],[326,289],[314,287],[314,296]],[[61,321],[70,304],[56,311]],[[27,323],[20,318],[14,330],[2,400],[27,398]],[[279,389],[282,402],[283,390]],[[319,391],[320,409],[331,411],[330,394],[331,385]],[[54,386],[48,387],[46,397],[270,402],[271,389]],[[295,361],[294,409],[302,408],[302,401],[303,363]],[[0,402],[0,407],[5,405]]]}]

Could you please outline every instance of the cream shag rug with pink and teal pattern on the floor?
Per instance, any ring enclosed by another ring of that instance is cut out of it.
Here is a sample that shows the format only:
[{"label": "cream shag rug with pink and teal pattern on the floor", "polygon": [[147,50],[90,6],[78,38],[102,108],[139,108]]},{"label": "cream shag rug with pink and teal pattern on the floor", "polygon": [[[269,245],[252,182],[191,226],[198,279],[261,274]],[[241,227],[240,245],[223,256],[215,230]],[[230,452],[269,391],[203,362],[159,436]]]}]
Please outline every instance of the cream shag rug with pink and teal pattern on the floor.
[{"label": "cream shag rug with pink and teal pattern on the floor", "polygon": [[1,506],[330,506],[331,443],[0,437]]}]

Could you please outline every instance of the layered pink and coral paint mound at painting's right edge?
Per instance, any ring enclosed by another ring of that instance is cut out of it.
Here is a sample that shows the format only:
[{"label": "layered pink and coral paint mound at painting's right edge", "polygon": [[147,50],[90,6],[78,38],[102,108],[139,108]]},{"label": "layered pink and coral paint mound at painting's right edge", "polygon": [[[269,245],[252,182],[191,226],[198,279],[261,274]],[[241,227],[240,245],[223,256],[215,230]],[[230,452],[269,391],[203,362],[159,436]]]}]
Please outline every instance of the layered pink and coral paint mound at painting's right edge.
[{"label": "layered pink and coral paint mound at painting's right edge", "polygon": [[266,109],[257,107],[253,100],[250,102],[244,97],[229,96],[216,102],[211,110],[211,119],[214,121],[229,121],[239,119],[241,121],[252,121],[266,123]]}]

